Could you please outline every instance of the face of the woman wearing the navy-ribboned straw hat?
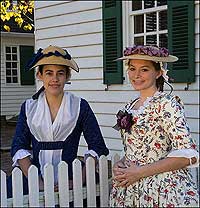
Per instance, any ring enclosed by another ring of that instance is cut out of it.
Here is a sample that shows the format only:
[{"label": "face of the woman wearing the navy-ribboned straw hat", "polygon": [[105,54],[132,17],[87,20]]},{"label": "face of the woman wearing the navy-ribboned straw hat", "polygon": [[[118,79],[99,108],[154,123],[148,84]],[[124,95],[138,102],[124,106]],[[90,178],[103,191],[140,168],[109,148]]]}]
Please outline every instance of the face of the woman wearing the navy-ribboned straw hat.
[{"label": "face of the woman wearing the navy-ribboned straw hat", "polygon": [[38,72],[37,77],[43,82],[45,92],[48,95],[58,96],[63,94],[66,74],[65,66],[44,65],[42,74]]}]

